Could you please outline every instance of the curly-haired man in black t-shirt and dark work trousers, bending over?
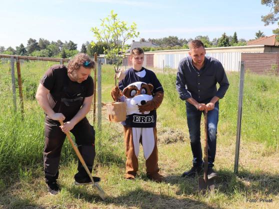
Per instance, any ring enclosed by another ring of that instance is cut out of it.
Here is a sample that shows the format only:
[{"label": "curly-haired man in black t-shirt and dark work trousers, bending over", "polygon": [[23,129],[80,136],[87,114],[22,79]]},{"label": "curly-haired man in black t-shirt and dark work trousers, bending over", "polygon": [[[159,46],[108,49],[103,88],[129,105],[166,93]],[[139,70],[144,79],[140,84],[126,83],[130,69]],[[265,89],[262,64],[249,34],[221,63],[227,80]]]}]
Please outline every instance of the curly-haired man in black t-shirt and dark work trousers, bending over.
[{"label": "curly-haired man in black t-shirt and dark work trousers, bending over", "polygon": [[[77,147],[92,171],[95,157],[95,131],[86,118],[90,110],[93,97],[94,83],[90,76],[94,61],[84,53],[74,56],[65,66],[56,64],[48,68],[40,80],[36,99],[45,112],[43,150],[44,176],[50,194],[57,194],[60,186],[58,165],[65,132],[70,131]],[[64,121],[60,125],[59,121]],[[97,182],[100,179],[93,177]],[[80,161],[77,173],[74,175],[74,184],[92,183]]]}]

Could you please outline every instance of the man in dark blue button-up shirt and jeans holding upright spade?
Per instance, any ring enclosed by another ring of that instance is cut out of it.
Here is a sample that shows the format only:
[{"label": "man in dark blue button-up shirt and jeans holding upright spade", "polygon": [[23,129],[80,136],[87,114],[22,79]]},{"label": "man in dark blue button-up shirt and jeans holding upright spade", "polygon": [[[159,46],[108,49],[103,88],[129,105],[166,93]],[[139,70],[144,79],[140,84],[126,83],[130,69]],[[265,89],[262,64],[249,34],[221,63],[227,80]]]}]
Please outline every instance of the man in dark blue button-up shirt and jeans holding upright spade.
[{"label": "man in dark blue button-up shirt and jeans holding upright spade", "polygon": [[[216,83],[220,87],[217,89]],[[182,173],[182,177],[194,176],[202,171],[202,149],[200,144],[200,119],[207,112],[208,134],[208,179],[217,174],[212,169],[216,153],[216,133],[219,102],[229,86],[222,64],[215,58],[205,56],[200,40],[189,43],[189,56],[179,62],[176,75],[176,90],[186,101],[187,124],[193,154],[193,166]]]}]

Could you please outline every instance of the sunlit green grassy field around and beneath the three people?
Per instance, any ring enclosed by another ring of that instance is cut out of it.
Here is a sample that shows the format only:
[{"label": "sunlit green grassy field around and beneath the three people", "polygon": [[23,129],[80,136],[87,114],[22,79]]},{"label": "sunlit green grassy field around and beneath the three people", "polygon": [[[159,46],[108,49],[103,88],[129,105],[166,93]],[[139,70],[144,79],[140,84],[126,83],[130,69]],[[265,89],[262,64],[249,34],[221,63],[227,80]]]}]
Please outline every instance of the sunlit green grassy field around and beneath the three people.
[{"label": "sunlit green grassy field around and beneath the three people", "polygon": [[[145,176],[142,149],[136,180],[123,178],[125,155],[122,127],[109,123],[103,111],[96,131],[93,173],[108,194],[101,201],[91,186],[74,186],[76,156],[65,141],[56,196],[47,194],[43,178],[43,112],[33,95],[51,62],[21,64],[24,120],[13,111],[9,65],[0,62],[0,208],[278,208],[279,79],[245,74],[239,173],[233,173],[238,102],[237,73],[228,73],[230,87],[220,101],[215,169],[220,174],[214,193],[200,195],[197,178],[181,178],[191,167],[184,103],[175,90],[175,74],[157,73],[165,97],[157,110],[160,172],[166,182]],[[102,66],[102,101],[110,102],[113,75]],[[17,90],[17,89],[16,89]],[[18,103],[18,97],[17,97]],[[88,114],[92,121],[92,111]],[[203,126],[203,124],[201,124]],[[263,202],[262,199],[272,199]],[[255,201],[255,202],[254,202]]]}]

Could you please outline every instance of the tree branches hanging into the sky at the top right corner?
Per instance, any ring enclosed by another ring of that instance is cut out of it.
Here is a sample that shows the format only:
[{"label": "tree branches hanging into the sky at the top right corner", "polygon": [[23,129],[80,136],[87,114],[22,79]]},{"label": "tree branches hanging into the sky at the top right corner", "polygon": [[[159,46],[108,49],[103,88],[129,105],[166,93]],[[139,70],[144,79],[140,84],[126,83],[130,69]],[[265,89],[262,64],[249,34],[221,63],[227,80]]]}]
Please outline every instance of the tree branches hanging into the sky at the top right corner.
[{"label": "tree branches hanging into the sky at the top right corner", "polygon": [[[264,22],[264,26],[268,24],[273,24],[279,18],[279,0],[261,0],[262,5],[266,5],[268,7],[271,6],[270,12],[266,15],[261,15],[261,21]],[[277,22],[279,26],[279,22]],[[279,41],[279,28],[272,30],[273,34],[276,34],[276,40]]]}]

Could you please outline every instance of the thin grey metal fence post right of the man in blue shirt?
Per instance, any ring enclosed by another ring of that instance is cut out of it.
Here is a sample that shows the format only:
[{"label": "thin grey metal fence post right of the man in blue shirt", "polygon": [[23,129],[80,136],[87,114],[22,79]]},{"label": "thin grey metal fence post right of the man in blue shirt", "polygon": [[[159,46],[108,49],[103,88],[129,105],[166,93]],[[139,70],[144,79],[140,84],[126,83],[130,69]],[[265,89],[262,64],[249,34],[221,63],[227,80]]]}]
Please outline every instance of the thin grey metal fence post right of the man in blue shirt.
[{"label": "thin grey metal fence post right of the man in blue shirt", "polygon": [[235,156],[234,156],[234,173],[238,172],[239,145],[240,145],[240,134],[241,134],[241,116],[242,116],[242,99],[243,99],[243,85],[244,85],[244,65],[245,65],[245,62],[241,61],[240,78],[239,78]]}]

